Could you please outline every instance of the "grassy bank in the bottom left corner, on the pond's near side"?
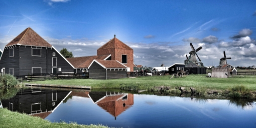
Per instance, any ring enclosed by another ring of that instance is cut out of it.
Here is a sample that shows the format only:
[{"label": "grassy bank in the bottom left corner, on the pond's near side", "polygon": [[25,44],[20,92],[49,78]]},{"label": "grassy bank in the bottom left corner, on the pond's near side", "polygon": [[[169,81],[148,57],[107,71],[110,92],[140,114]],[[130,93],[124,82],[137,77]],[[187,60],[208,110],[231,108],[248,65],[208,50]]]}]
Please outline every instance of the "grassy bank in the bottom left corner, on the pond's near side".
[{"label": "grassy bank in the bottom left corner, on the pond's near side", "polygon": [[53,123],[40,117],[13,112],[6,108],[0,108],[0,127],[107,127],[103,125],[80,125],[77,123]]}]

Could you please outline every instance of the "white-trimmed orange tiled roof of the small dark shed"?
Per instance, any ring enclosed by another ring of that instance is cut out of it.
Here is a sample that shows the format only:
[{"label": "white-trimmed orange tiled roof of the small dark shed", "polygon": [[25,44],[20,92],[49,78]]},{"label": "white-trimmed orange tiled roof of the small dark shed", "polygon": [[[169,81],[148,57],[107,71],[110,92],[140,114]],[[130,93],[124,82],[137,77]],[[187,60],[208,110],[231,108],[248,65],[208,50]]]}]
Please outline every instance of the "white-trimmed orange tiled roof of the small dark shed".
[{"label": "white-trimmed orange tiled roof of the small dark shed", "polygon": [[[98,64],[100,64],[102,67],[104,68],[127,68],[127,66],[123,65],[122,63],[120,63],[119,61],[117,60],[96,60],[94,59],[91,64],[93,62],[97,62]],[[90,64],[90,66],[91,66]],[[89,66],[89,67],[90,67]],[[89,68],[88,67],[88,68]]]}]

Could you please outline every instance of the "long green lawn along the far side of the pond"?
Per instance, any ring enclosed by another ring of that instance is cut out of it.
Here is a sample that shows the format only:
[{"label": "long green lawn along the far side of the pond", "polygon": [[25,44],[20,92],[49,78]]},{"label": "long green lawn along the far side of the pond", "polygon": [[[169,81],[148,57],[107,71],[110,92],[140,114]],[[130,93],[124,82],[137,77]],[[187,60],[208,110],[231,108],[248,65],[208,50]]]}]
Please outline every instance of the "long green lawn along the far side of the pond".
[{"label": "long green lawn along the far side of the pond", "polygon": [[57,79],[45,81],[33,81],[28,83],[61,84],[61,85],[85,85],[91,88],[119,88],[120,85],[139,85],[140,88],[149,89],[154,86],[171,87],[198,87],[204,86],[208,89],[225,90],[235,85],[245,85],[250,90],[256,90],[256,75],[237,75],[230,78],[212,78],[205,75],[186,75],[183,78],[171,78],[171,75],[163,76],[140,76],[136,78],[119,79]]}]

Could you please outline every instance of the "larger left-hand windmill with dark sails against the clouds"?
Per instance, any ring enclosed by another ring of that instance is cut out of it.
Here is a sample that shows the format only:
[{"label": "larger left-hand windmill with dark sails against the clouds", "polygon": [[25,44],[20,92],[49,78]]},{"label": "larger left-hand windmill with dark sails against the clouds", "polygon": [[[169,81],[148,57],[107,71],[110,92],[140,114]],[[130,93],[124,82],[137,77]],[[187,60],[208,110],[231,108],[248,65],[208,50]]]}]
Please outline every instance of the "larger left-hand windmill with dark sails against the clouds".
[{"label": "larger left-hand windmill with dark sails against the clouds", "polygon": [[[198,57],[198,55],[196,53],[197,51],[199,51],[203,47],[200,46],[197,49],[195,49],[191,42],[190,42],[190,47],[191,47],[192,50],[189,52],[189,56],[186,55],[187,59],[184,61],[184,63],[188,63],[188,62],[192,61],[192,62],[194,62],[194,63],[196,63],[196,64],[198,64],[200,66],[203,66],[203,63],[201,62],[201,59]],[[199,61],[197,61],[196,58],[198,58]]]}]

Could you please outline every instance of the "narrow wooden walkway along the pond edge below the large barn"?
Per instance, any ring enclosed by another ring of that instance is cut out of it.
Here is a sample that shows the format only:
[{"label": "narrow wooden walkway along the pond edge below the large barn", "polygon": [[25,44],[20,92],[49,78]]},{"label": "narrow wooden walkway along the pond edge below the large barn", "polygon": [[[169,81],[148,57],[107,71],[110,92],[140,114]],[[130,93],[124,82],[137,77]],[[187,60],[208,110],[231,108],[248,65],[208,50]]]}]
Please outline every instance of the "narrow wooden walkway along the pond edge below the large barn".
[{"label": "narrow wooden walkway along the pond edge below the large barn", "polygon": [[78,85],[58,85],[58,84],[38,84],[38,83],[24,83],[26,86],[42,86],[42,87],[58,87],[58,88],[77,88],[77,89],[91,89],[91,86]]}]

